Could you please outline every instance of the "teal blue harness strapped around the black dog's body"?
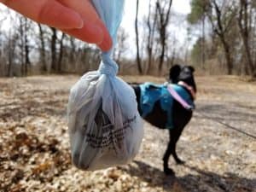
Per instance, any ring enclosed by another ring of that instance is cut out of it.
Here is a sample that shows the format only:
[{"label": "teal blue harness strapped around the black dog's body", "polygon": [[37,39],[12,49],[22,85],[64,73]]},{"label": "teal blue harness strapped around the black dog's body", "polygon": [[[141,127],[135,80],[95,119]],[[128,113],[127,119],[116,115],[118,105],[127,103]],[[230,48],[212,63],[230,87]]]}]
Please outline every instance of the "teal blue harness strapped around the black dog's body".
[{"label": "teal blue harness strapped around the black dog's body", "polygon": [[181,85],[152,84],[147,82],[145,84],[140,84],[140,89],[140,108],[142,110],[142,117],[144,118],[148,113],[151,113],[155,102],[159,101],[160,108],[167,113],[166,129],[173,128],[173,102],[177,99],[177,97],[172,96],[173,93],[176,93],[184,102],[188,103],[190,108],[187,109],[195,108],[191,96],[189,96],[189,93]]}]

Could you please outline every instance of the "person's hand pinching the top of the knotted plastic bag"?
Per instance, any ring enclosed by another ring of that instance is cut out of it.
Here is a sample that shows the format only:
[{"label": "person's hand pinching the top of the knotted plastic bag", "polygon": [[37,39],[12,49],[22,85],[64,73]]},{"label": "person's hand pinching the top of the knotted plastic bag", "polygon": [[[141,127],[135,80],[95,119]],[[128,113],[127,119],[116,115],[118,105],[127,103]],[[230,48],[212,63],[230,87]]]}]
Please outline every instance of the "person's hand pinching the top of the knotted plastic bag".
[{"label": "person's hand pinching the top of the knotted plastic bag", "polygon": [[0,0],[0,3],[38,23],[97,44],[103,51],[112,46],[108,30],[90,0]]}]

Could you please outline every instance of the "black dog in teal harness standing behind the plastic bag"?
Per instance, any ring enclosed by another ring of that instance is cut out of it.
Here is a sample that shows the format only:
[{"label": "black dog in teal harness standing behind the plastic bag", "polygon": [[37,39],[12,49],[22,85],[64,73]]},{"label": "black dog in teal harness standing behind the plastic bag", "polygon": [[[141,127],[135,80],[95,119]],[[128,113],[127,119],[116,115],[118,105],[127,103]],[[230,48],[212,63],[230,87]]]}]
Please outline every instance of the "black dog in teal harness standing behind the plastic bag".
[{"label": "black dog in teal harness standing behind the plastic bag", "polygon": [[[196,85],[194,79],[194,67],[175,65],[170,69],[169,81],[172,84],[180,84],[189,93],[192,101],[195,100]],[[138,84],[131,84],[132,88],[135,90],[138,103],[138,111],[142,114],[142,109],[140,108],[140,97],[141,88]],[[192,117],[192,110],[183,108],[183,106],[174,100],[172,104],[172,119],[173,128],[169,130],[170,141],[166,148],[166,153],[163,157],[164,161],[164,172],[168,175],[174,174],[171,168],[168,167],[168,160],[172,154],[174,160],[177,164],[183,164],[183,160],[180,160],[176,154],[176,143],[183,132],[185,125],[189,123]],[[163,111],[160,107],[160,101],[154,103],[154,108],[151,113],[148,113],[144,119],[148,121],[151,125],[154,125],[160,129],[166,128],[167,113]]]}]

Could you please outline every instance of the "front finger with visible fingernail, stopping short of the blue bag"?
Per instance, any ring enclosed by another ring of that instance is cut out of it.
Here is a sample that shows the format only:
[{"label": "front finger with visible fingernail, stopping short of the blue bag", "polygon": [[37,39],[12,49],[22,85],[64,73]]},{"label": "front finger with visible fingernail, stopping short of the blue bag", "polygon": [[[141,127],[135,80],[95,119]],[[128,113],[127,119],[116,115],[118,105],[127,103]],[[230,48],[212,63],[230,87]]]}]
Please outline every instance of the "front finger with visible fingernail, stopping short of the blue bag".
[{"label": "front finger with visible fingernail, stopping short of the blue bag", "polygon": [[81,16],[55,0],[0,0],[26,17],[55,28],[81,28]]}]

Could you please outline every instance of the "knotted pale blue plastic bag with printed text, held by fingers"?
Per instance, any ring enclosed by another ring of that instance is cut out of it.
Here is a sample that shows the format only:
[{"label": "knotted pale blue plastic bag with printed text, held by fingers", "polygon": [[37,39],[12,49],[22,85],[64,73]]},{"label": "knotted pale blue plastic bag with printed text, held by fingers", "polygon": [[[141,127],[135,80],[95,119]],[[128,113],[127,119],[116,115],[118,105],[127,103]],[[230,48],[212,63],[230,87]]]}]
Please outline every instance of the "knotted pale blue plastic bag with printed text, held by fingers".
[{"label": "knotted pale blue plastic bag with printed text, held by fingers", "polygon": [[[92,0],[115,42],[123,0]],[[98,71],[73,85],[67,108],[73,164],[94,171],[130,162],[143,139],[134,90],[116,77],[111,50],[102,53]]]}]

